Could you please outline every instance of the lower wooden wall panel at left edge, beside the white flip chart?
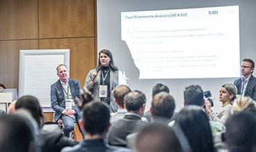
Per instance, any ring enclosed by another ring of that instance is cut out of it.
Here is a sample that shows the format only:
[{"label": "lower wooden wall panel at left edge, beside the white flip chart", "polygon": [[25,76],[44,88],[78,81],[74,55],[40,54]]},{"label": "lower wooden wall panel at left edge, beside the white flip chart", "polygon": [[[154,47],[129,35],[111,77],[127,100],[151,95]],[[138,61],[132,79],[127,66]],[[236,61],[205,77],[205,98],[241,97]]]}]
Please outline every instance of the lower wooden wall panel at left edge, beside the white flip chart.
[{"label": "lower wooden wall panel at left edge, beside the white flip chart", "polygon": [[38,49],[37,40],[0,41],[0,83],[19,87],[19,50]]}]

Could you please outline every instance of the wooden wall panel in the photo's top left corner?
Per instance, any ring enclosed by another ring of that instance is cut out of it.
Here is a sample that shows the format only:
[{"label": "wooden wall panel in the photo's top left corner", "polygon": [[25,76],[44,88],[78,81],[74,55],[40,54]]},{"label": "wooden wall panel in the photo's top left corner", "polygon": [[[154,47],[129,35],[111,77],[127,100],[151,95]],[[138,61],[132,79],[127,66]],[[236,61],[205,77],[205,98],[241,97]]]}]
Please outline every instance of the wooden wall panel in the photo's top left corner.
[{"label": "wooden wall panel in the photo's top left corner", "polygon": [[37,0],[0,0],[0,40],[37,39]]}]

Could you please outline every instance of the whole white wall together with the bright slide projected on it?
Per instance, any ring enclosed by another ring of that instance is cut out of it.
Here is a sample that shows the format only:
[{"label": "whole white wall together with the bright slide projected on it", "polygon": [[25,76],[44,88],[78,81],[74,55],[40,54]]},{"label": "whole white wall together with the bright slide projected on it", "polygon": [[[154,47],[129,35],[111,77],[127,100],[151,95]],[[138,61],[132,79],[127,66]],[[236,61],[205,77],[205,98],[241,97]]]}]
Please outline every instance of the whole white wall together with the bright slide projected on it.
[{"label": "whole white wall together with the bright slide projected on it", "polygon": [[[241,76],[241,61],[256,61],[256,1],[97,0],[97,49],[108,49],[127,84],[152,101],[152,88],[170,88],[176,110],[190,85],[219,89]],[[255,76],[255,72],[253,72]]]}]

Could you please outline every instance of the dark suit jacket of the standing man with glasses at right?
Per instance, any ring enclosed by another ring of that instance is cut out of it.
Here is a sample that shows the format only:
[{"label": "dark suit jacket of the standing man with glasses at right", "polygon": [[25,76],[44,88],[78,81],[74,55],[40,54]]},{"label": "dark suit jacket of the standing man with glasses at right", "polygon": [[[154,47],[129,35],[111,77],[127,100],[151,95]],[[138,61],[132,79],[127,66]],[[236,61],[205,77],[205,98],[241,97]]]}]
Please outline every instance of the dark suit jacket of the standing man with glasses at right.
[{"label": "dark suit jacket of the standing man with glasses at right", "polygon": [[[237,94],[241,94],[241,83],[242,79],[237,78],[234,82],[234,85],[237,87]],[[256,78],[252,75],[244,91],[244,96],[250,96],[253,100],[256,100]]]}]

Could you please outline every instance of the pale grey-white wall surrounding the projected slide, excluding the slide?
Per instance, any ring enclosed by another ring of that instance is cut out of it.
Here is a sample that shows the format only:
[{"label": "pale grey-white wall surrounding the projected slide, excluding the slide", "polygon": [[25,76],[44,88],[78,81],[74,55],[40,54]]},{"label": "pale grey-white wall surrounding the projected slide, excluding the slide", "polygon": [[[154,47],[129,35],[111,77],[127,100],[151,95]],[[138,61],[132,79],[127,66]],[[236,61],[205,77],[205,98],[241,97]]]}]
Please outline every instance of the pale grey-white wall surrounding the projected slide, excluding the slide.
[{"label": "pale grey-white wall surrounding the projected slide, excluding the slide", "polygon": [[[98,50],[107,48],[113,53],[116,66],[120,69],[134,67],[129,58],[129,50],[121,40],[120,12],[139,10],[164,10],[179,8],[200,8],[215,6],[239,6],[240,17],[240,56],[252,58],[256,61],[256,1],[239,0],[98,0]],[[128,56],[128,57],[127,57]],[[224,69],[234,68],[232,65],[223,65]],[[134,72],[134,69],[128,73]],[[202,71],[203,73],[203,71]],[[137,72],[135,70],[134,75]],[[138,89],[147,95],[147,109],[151,101],[152,87],[156,83],[164,83],[170,87],[172,96],[176,100],[176,110],[183,107],[183,91],[185,87],[196,84],[203,90],[210,90],[214,98],[214,110],[221,107],[219,102],[219,89],[225,83],[233,83],[235,78],[200,78],[200,79],[157,79],[157,80],[132,80],[129,82],[131,89]]]}]

